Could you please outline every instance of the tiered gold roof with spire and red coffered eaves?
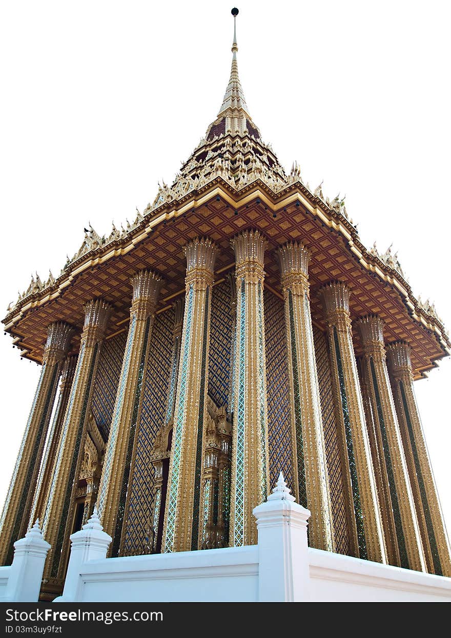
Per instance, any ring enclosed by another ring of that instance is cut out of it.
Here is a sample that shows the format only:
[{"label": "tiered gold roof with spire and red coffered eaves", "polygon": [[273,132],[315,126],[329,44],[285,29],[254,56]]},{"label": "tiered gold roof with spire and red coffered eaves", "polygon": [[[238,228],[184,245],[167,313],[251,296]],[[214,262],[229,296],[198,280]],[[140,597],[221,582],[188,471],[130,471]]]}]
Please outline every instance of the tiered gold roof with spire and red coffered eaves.
[{"label": "tiered gold roof with spire and red coffered eaves", "polygon": [[[285,173],[270,144],[262,140],[250,116],[238,75],[236,31],[232,66],[217,118],[182,165],[175,180],[161,184],[153,204],[138,211],[132,223],[113,225],[100,236],[89,224],[82,246],[67,259],[61,274],[41,280],[36,274],[3,320],[22,356],[40,361],[47,326],[65,320],[82,328],[84,301],[103,297],[114,306],[111,338],[125,330],[131,292],[129,278],[150,267],[161,272],[159,311],[184,292],[183,244],[208,235],[220,248],[217,277],[233,269],[230,239],[243,228],[259,228],[269,240],[266,286],[281,296],[273,249],[289,240],[311,250],[310,280],[313,321],[322,325],[315,290],[325,281],[341,279],[352,288],[352,316],[376,313],[386,323],[387,341],[412,345],[415,375],[422,376],[436,360],[451,352],[451,342],[433,304],[415,299],[396,254],[367,249],[348,218],[340,197],[324,197],[304,183],[299,166]],[[357,353],[359,336],[355,334]],[[75,338],[73,349],[76,352]]]}]

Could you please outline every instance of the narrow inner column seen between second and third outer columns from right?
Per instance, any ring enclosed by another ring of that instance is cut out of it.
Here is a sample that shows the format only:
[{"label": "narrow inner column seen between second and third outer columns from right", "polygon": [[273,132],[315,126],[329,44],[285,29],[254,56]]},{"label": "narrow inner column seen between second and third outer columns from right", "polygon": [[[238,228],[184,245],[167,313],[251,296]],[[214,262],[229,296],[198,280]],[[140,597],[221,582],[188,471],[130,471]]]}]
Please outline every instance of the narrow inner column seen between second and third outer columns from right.
[{"label": "narrow inner column seen between second and third outer columns from right", "polygon": [[376,490],[379,498],[379,511],[382,523],[383,542],[387,553],[389,565],[400,565],[399,551],[397,549],[396,527],[390,499],[390,487],[385,470],[385,459],[382,452],[382,440],[380,429],[376,425],[373,413],[373,401],[371,397],[371,380],[369,379],[368,366],[364,364],[362,357],[357,359],[357,371],[362,392],[363,408],[365,413],[366,430],[368,432],[369,449],[376,481]]}]

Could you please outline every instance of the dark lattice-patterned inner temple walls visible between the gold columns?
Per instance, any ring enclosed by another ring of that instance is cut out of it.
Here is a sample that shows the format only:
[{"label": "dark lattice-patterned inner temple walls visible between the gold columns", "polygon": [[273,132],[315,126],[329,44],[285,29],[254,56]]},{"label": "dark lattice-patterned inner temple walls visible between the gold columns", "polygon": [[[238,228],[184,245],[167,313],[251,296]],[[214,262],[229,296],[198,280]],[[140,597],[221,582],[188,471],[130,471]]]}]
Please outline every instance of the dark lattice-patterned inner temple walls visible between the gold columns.
[{"label": "dark lattice-patterned inner temple walls visible between the gold columns", "polygon": [[[275,484],[278,473],[282,470],[288,486],[291,486],[289,373],[284,308],[283,301],[266,289],[264,290],[264,313],[269,484]],[[154,497],[154,470],[150,463],[150,452],[166,413],[173,321],[172,309],[155,318],[141,406],[140,431],[134,458],[124,555],[148,552],[148,530]],[[229,410],[230,399],[233,323],[231,289],[229,282],[225,280],[214,287],[211,299],[208,394],[218,406],[226,405],[227,410]],[[324,333],[315,326],[313,336],[331,491],[334,542],[336,552],[347,554],[349,552],[348,520],[334,416],[328,345]],[[125,330],[115,338],[106,341],[99,360],[92,413],[99,429],[106,435],[111,423],[126,338]]]}]

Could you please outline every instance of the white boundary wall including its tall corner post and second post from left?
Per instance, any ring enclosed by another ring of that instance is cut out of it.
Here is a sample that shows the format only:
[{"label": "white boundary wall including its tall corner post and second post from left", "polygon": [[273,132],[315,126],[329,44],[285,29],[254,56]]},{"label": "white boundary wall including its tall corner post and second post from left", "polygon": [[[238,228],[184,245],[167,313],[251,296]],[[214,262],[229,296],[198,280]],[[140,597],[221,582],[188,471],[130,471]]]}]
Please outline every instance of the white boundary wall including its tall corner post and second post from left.
[{"label": "white boundary wall including its tall corner post and second post from left", "polygon": [[448,601],[451,579],[307,545],[310,512],[281,475],[254,509],[258,544],[105,558],[111,537],[97,512],[71,536],[61,602]]}]

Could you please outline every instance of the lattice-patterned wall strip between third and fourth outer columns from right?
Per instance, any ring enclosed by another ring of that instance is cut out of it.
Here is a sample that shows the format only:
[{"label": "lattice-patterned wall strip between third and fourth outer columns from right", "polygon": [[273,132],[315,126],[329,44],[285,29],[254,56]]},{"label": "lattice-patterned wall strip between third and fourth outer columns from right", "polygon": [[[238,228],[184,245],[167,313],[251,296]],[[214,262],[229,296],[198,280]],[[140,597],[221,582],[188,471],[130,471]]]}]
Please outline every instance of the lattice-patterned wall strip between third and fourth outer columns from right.
[{"label": "lattice-patterned wall strip between third and fourth outer columns from right", "polygon": [[335,422],[334,395],[327,338],[324,332],[313,326],[313,341],[317,361],[318,383],[320,387],[321,412],[326,445],[327,473],[331,492],[331,508],[335,551],[347,554],[350,550],[348,519],[343,487],[343,471],[338,434]]}]

